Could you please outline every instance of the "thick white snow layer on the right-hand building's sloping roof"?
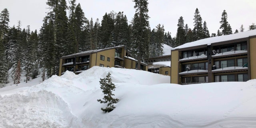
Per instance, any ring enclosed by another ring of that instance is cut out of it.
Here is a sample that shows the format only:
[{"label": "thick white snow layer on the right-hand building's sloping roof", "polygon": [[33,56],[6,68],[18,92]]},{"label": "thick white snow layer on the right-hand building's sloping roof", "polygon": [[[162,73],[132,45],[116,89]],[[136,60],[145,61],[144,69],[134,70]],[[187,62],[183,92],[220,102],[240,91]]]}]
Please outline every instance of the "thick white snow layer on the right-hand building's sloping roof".
[{"label": "thick white snow layer on the right-hand building's sloping roof", "polygon": [[193,47],[193,46],[200,46],[200,45],[210,45],[210,44],[216,43],[216,42],[236,40],[236,39],[247,38],[247,37],[255,36],[255,35],[256,35],[256,30],[250,30],[250,31],[246,31],[246,32],[240,32],[240,33],[230,34],[230,35],[225,35],[225,36],[216,36],[216,37],[211,37],[211,38],[205,38],[202,40],[197,40],[194,42],[189,42],[189,43],[183,44],[181,46],[175,47],[172,50],[180,49],[180,48],[188,48],[188,47]]}]

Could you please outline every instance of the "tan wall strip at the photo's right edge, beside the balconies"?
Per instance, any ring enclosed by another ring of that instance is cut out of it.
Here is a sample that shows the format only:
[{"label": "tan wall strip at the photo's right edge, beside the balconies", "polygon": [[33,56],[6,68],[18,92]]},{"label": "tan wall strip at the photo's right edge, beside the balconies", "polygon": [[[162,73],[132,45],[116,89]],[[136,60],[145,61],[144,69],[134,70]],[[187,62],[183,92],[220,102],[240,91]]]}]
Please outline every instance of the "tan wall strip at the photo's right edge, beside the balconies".
[{"label": "tan wall strip at the photo's right edge, beside the balconies", "polygon": [[251,68],[251,78],[256,79],[256,37],[250,38],[250,68]]}]

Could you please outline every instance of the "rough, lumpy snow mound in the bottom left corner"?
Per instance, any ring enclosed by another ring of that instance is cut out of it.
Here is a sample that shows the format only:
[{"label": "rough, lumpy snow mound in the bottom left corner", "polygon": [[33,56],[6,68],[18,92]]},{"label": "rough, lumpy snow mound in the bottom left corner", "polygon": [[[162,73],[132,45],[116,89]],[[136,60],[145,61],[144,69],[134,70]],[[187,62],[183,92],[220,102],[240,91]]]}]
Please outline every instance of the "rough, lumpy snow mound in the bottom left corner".
[{"label": "rough, lumpy snow mound in the bottom left corner", "polygon": [[66,127],[75,118],[66,102],[42,90],[27,95],[13,94],[0,99],[0,128]]}]

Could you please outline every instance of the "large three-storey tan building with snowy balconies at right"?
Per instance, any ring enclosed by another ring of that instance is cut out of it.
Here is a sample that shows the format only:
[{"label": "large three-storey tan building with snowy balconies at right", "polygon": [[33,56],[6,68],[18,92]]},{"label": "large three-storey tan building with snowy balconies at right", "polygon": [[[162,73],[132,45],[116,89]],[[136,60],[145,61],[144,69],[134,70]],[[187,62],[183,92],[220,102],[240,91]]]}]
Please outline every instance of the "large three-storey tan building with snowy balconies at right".
[{"label": "large three-storey tan building with snowy balconies at right", "polygon": [[256,30],[189,42],[171,55],[174,84],[256,79]]}]

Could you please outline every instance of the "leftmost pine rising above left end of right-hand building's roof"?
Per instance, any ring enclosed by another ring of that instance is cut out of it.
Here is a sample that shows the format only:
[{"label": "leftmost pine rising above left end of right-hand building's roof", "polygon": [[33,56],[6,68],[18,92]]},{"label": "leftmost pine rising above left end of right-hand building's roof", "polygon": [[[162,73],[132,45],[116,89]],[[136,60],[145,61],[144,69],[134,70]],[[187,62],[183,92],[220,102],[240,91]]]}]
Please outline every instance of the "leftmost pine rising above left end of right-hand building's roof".
[{"label": "leftmost pine rising above left end of right-hand building's roof", "polygon": [[175,46],[180,46],[182,44],[185,44],[186,42],[186,32],[184,29],[184,20],[183,17],[180,16],[179,20],[178,20],[178,29],[177,29],[177,33],[176,33],[176,45]]}]

